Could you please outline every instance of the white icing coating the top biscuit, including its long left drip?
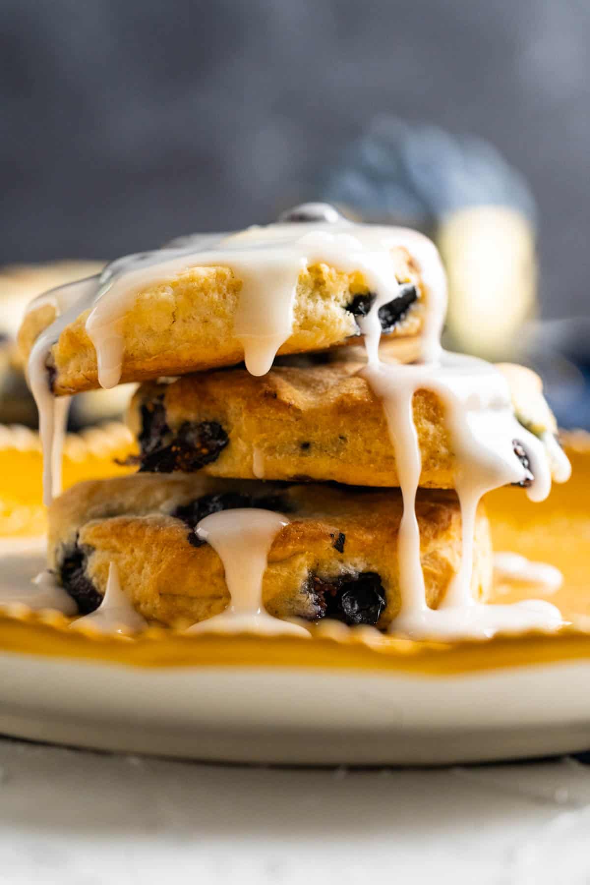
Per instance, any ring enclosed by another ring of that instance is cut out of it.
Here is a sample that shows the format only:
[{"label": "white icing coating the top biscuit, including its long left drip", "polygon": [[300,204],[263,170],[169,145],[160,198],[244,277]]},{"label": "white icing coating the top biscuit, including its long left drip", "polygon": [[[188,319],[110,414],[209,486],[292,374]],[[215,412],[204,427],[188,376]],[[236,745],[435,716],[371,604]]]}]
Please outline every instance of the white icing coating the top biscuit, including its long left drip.
[{"label": "white icing coating the top biscuit, including its long left drip", "polygon": [[[297,279],[305,267],[324,263],[341,272],[363,273],[369,289],[379,293],[380,306],[399,295],[390,252],[399,245],[407,245],[422,256],[425,283],[432,299],[441,287],[436,285],[438,280],[431,285],[428,279],[429,273],[433,273],[432,255],[436,254],[430,241],[404,228],[353,225],[346,221],[253,227],[220,242],[216,238],[188,237],[174,248],[119,258],[100,276],[35,299],[29,310],[50,302],[58,313],[57,320],[35,342],[29,358],[29,378],[39,409],[44,455],[49,456],[50,450],[55,452],[53,458],[45,458],[45,502],[50,503],[52,466],[59,459],[58,434],[54,435],[54,431],[63,419],[63,412],[56,414],[49,390],[47,361],[63,329],[81,313],[89,311],[86,331],[96,348],[98,380],[104,388],[111,388],[120,381],[125,348],[123,327],[137,293],[165,283],[191,266],[229,266],[241,279],[234,335],[242,344],[249,372],[264,375],[281,344],[291,335]],[[434,274],[438,273],[437,265]],[[429,300],[431,306],[434,305]],[[372,313],[376,317],[376,312]],[[444,310],[434,309],[435,319],[425,321],[427,353],[438,341],[443,315]]]}]

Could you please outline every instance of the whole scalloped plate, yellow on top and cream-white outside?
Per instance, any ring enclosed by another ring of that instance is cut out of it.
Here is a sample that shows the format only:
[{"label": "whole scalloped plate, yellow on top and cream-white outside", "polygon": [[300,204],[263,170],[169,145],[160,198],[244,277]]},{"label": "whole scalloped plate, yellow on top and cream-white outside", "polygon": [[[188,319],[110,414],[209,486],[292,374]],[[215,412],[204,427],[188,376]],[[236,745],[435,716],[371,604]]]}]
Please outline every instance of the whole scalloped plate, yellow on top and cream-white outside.
[{"label": "whole scalloped plate, yellow on top and cream-white outside", "polygon": [[[488,499],[496,549],[562,569],[559,635],[411,643],[324,623],[310,640],[68,631],[0,614],[0,731],[98,750],[290,765],[441,765],[590,748],[590,445],[544,504]],[[497,601],[539,595],[498,585]]]}]

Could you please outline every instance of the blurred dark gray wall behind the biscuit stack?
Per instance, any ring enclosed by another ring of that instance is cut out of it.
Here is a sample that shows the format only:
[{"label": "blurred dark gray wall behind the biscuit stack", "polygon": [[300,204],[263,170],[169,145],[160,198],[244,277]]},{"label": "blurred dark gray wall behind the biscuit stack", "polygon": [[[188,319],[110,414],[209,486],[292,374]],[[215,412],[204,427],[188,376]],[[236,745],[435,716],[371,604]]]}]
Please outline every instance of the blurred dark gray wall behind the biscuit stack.
[{"label": "blurred dark gray wall behind the biscuit stack", "polygon": [[0,262],[264,222],[380,112],[481,135],[586,312],[586,0],[0,0]]}]

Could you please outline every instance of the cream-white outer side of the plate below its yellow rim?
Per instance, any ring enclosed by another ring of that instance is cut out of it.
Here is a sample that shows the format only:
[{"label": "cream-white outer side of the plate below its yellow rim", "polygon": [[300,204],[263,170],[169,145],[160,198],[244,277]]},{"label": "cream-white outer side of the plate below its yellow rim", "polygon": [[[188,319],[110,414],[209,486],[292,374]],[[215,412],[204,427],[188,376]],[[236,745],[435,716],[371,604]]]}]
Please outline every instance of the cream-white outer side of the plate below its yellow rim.
[{"label": "cream-white outer side of the plate below its yellow rim", "polygon": [[3,654],[0,730],[223,762],[383,766],[523,758],[590,747],[589,679],[588,660],[436,676]]}]

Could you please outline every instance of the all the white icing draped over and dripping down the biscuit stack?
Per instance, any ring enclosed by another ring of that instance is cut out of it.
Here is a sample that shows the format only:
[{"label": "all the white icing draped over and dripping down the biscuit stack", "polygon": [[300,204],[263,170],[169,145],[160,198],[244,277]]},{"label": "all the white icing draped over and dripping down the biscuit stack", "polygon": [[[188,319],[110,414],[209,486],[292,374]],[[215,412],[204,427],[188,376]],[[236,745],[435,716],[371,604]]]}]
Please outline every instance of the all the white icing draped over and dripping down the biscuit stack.
[{"label": "all the white icing draped over and dripping down the biscuit stack", "polygon": [[[411,366],[379,359],[379,308],[401,294],[391,257],[395,246],[407,248],[417,261],[422,298],[426,293],[421,362]],[[81,281],[78,289],[67,287],[50,294],[60,315],[35,344],[29,364],[31,384],[42,413],[46,489],[57,487],[56,431],[63,421],[63,412],[59,412],[59,407],[56,409],[47,387],[46,364],[51,346],[69,322],[80,313],[90,311],[86,328],[96,347],[99,381],[103,387],[111,387],[120,380],[125,345],[123,322],[137,293],[172,279],[190,266],[229,266],[242,281],[234,335],[242,343],[249,372],[262,375],[272,366],[281,344],[291,335],[299,273],[306,266],[318,263],[343,272],[363,273],[369,290],[376,296],[368,315],[359,319],[359,325],[367,352],[367,366],[362,372],[382,400],[387,415],[404,502],[399,533],[402,611],[393,622],[392,631],[417,638],[435,638],[438,635],[489,636],[498,631],[560,626],[559,612],[546,602],[487,606],[477,604],[473,598],[473,533],[479,498],[490,489],[527,478],[525,466],[514,452],[517,440],[524,445],[534,476],[527,493],[535,501],[542,500],[548,495],[551,481],[548,454],[540,440],[517,422],[508,382],[493,366],[441,350],[441,328],[447,306],[445,274],[433,243],[404,228],[338,221],[329,225],[255,227],[220,240],[188,237],[171,248],[121,258],[108,266],[99,278]],[[418,389],[432,390],[443,404],[456,454],[456,491],[463,518],[462,565],[438,611],[431,610],[425,601],[415,515],[421,465],[412,398]],[[53,458],[49,457],[50,450]],[[253,472],[262,473],[262,458],[258,458],[257,453],[255,456]],[[563,452],[560,456],[554,451],[553,460],[558,481],[566,479],[569,463]],[[214,522],[208,524],[207,519]],[[224,627],[293,632],[289,628],[294,625],[285,626],[285,622],[272,619],[264,612],[261,601],[266,555],[274,537],[272,531],[276,534],[279,530],[278,519],[284,518],[272,512],[246,510],[221,512],[203,520],[199,526],[200,536],[211,543],[223,561],[232,604],[227,612],[192,629]],[[112,593],[115,594],[115,590]],[[105,596],[105,611],[107,607]],[[301,628],[294,629],[301,631]]]}]

